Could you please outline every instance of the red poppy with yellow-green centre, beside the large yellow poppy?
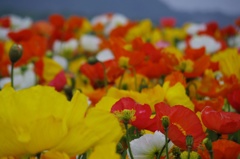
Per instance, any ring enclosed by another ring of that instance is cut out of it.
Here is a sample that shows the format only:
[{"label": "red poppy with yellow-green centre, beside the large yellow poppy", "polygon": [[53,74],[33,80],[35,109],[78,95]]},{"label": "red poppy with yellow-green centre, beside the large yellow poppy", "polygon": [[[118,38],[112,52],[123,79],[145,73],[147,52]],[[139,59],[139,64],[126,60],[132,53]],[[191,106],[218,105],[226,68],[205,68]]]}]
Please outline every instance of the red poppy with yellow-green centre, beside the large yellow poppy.
[{"label": "red poppy with yellow-green centre, beside the large yellow poppy", "polygon": [[152,111],[149,105],[141,105],[136,103],[132,98],[123,97],[111,108],[111,112],[114,114],[124,113],[124,110],[130,111],[133,115],[129,119],[131,125],[138,129],[157,130],[156,119],[151,119]]}]

